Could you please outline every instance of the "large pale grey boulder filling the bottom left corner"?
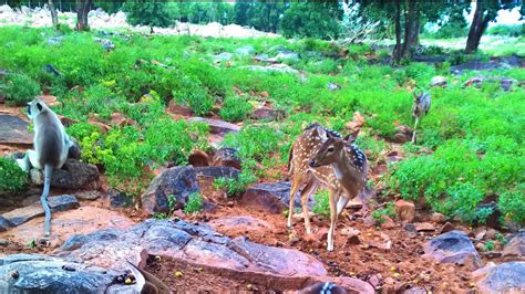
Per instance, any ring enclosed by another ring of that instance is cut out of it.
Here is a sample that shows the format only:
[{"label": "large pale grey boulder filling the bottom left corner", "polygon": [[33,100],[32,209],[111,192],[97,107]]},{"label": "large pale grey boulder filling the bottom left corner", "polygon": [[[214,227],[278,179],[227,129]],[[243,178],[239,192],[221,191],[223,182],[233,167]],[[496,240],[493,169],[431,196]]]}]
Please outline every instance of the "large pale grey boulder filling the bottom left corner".
[{"label": "large pale grey boulder filling the bottom left corner", "polygon": [[140,293],[136,284],[114,284],[122,270],[41,254],[14,254],[0,259],[0,293]]}]

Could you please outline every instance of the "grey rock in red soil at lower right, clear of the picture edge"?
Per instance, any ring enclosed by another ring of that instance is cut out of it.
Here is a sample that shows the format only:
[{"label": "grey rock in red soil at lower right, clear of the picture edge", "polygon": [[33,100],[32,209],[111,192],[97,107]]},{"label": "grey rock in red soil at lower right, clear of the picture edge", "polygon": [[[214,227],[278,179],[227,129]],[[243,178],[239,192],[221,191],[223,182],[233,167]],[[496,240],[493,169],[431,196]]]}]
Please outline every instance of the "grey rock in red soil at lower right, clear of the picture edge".
[{"label": "grey rock in red soil at lower right, clear of the picture edge", "polygon": [[424,255],[442,263],[466,264],[480,267],[482,261],[474,244],[462,231],[450,231],[424,244]]}]

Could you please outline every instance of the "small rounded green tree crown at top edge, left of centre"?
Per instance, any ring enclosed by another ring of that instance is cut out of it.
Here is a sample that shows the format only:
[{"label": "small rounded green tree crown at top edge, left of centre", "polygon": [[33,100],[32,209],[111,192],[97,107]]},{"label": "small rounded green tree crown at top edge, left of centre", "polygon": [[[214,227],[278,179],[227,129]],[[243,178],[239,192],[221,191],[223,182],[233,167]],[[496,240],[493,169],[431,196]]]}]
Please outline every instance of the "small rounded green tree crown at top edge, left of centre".
[{"label": "small rounded green tree crown at top edge, left of centre", "polygon": [[123,9],[130,24],[166,28],[174,23],[177,7],[171,2],[130,1]]}]

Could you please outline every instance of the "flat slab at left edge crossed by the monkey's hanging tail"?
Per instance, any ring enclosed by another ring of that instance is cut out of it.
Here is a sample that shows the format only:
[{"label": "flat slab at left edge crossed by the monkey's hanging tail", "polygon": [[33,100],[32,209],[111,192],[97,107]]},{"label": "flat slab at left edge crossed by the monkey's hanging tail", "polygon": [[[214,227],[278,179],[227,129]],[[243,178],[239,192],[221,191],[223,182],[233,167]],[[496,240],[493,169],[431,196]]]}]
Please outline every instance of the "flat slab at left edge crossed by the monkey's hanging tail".
[{"label": "flat slab at left edge crossed by the monkey's hanging tail", "polygon": [[[71,195],[49,197],[48,203],[51,212],[75,209],[80,206],[76,198]],[[40,201],[29,207],[19,208],[2,214],[2,217],[9,220],[14,227],[42,216],[44,216],[44,211]]]}]

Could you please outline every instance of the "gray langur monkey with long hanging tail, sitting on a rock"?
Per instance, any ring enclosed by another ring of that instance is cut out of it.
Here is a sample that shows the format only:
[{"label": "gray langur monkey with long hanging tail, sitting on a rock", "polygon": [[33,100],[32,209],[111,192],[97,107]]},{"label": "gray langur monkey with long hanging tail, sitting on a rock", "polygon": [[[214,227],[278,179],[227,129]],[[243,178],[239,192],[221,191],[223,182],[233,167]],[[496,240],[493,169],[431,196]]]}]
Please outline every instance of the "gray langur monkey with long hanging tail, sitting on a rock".
[{"label": "gray langur monkey with long hanging tail, sitting on a rock", "polygon": [[65,128],[45,103],[35,98],[28,103],[28,117],[33,122],[34,150],[28,150],[22,159],[18,159],[20,167],[29,172],[31,166],[44,170],[44,187],[40,201],[45,212],[44,235],[51,233],[51,209],[48,204],[49,188],[53,169],[60,169],[68,159],[72,146]]}]

